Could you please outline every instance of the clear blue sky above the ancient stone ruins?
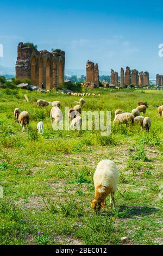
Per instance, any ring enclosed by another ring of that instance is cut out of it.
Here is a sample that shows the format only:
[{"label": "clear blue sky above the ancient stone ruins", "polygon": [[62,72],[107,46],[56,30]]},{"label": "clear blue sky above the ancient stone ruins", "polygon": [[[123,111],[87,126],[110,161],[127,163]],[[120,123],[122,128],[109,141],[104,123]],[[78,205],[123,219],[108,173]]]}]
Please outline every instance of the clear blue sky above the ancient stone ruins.
[{"label": "clear blue sky above the ancient stone ruins", "polygon": [[163,74],[163,1],[3,1],[0,5],[1,65],[15,66],[18,42],[38,50],[61,48],[66,69],[98,63],[100,74],[121,67]]}]

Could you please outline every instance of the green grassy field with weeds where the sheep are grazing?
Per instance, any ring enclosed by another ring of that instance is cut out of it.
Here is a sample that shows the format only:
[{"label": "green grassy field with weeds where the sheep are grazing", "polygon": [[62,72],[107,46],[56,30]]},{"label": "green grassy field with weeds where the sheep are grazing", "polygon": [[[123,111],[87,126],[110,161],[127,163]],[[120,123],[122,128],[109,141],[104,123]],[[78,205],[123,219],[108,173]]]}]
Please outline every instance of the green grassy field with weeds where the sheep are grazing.
[{"label": "green grassy field with weeds where the sheep are grazing", "polygon": [[[79,97],[59,92],[39,93],[0,89],[0,244],[1,245],[161,245],[162,200],[158,197],[163,169],[163,105],[158,90],[99,89],[101,96],[84,97],[83,110],[111,111],[111,135],[99,131],[54,131],[51,106],[37,107],[38,99],[60,100],[73,107]],[[24,99],[29,97],[29,103]],[[131,112],[147,101],[145,116],[151,131],[139,126],[113,126],[114,111]],[[28,111],[28,132],[21,132],[13,111]],[[36,124],[45,132],[38,135]],[[115,200],[96,215],[93,173],[97,163],[116,163],[120,182]],[[38,234],[39,232],[39,234]],[[127,237],[122,239],[122,237]]]}]

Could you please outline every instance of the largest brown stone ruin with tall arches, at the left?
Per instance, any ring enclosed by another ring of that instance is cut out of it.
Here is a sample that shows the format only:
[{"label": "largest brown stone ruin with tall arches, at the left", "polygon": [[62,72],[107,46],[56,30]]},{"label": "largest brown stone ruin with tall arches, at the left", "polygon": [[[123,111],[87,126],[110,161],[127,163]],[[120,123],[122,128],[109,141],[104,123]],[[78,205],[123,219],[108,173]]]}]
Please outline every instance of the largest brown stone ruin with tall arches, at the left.
[{"label": "largest brown stone ruin with tall arches, at the left", "polygon": [[17,47],[16,78],[29,78],[32,84],[46,89],[59,87],[64,83],[65,52],[37,51],[35,48]]}]

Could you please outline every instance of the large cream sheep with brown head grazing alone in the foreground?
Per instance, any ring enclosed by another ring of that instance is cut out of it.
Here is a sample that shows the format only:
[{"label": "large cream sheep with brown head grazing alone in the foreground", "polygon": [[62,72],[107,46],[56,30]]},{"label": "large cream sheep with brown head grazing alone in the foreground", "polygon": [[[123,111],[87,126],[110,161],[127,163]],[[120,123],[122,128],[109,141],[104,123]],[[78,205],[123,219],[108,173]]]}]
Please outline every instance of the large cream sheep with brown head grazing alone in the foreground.
[{"label": "large cream sheep with brown head grazing alone in the foreground", "polygon": [[106,197],[110,194],[110,206],[115,209],[114,194],[117,189],[119,174],[115,163],[111,160],[102,160],[98,163],[93,175],[95,185],[95,197],[91,207],[99,211],[101,207],[106,208]]}]

